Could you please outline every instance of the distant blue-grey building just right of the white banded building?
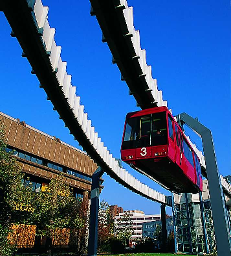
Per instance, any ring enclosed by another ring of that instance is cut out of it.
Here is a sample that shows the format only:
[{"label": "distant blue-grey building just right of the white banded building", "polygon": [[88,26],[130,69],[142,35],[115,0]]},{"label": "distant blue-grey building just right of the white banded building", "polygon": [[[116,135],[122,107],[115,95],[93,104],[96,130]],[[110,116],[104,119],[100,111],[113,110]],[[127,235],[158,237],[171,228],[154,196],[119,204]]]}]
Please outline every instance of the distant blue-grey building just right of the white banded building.
[{"label": "distant blue-grey building just right of the white banded building", "polygon": [[[142,224],[143,237],[155,238],[155,230],[161,225],[161,220],[155,220],[152,222],[144,222]],[[167,237],[173,232],[173,218],[171,216],[166,216],[166,227],[167,227]]]}]

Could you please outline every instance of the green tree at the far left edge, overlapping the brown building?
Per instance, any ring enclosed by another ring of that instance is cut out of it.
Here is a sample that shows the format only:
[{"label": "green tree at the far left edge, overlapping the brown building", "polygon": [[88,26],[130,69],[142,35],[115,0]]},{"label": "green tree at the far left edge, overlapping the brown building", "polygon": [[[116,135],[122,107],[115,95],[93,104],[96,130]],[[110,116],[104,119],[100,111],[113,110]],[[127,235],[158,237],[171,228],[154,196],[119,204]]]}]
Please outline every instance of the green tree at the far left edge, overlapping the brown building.
[{"label": "green tree at the far left edge, overlapping the brown building", "polygon": [[8,238],[12,223],[16,223],[21,214],[17,209],[25,209],[30,200],[31,191],[22,188],[23,173],[12,152],[6,152],[5,127],[0,122],[0,255],[10,255],[16,249]]}]

